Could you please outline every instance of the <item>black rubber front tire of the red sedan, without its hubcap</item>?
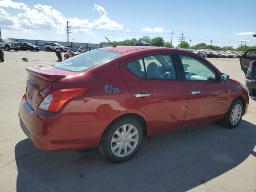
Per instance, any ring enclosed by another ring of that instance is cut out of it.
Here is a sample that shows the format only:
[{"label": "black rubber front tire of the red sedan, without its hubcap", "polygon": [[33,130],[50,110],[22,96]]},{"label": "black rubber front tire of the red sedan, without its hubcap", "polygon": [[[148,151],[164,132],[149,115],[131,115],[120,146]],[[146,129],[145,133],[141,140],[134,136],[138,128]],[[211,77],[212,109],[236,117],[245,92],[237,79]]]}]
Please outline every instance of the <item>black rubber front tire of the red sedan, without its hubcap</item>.
[{"label": "black rubber front tire of the red sedan, without its hubcap", "polygon": [[[234,108],[234,106],[236,106],[237,104],[240,104],[241,108],[242,108],[242,114],[241,114],[241,117],[240,117],[240,120],[235,124],[233,125],[231,123],[231,120],[230,120],[230,116],[232,114],[232,110]],[[240,123],[241,119],[242,119],[242,115],[244,114],[244,106],[243,106],[243,103],[240,99],[236,99],[234,100],[231,105],[229,106],[228,108],[228,111],[226,113],[226,115],[224,116],[224,118],[220,121],[220,123],[222,124],[222,126],[226,127],[226,128],[229,128],[229,129],[233,129],[235,128],[236,126],[238,126],[238,124]]]}]

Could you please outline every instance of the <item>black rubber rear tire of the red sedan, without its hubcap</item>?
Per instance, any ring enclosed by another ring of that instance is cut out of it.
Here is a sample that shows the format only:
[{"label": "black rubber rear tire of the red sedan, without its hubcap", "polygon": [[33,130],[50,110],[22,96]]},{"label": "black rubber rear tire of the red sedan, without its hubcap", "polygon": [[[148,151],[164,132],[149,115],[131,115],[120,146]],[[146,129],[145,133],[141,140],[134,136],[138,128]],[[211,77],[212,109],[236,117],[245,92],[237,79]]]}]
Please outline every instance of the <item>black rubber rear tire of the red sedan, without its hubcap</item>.
[{"label": "black rubber rear tire of the red sedan, without its hubcap", "polygon": [[[113,154],[111,147],[110,147],[110,143],[111,143],[111,139],[112,139],[114,132],[118,128],[120,128],[120,126],[122,126],[124,124],[131,124],[136,127],[136,129],[138,130],[138,135],[139,135],[138,136],[138,144],[136,145],[135,149],[127,156],[118,157]],[[114,122],[112,122],[106,128],[106,130],[103,133],[102,138],[100,140],[100,144],[98,145],[98,150],[100,151],[102,156],[104,158],[108,159],[109,161],[111,161],[113,163],[122,163],[122,162],[125,162],[125,161],[129,160],[130,158],[132,158],[138,152],[141,142],[142,142],[142,139],[143,139],[143,129],[142,129],[142,125],[140,124],[140,122],[138,120],[136,120],[136,118],[134,118],[133,116],[123,116],[121,118],[118,118]]]}]

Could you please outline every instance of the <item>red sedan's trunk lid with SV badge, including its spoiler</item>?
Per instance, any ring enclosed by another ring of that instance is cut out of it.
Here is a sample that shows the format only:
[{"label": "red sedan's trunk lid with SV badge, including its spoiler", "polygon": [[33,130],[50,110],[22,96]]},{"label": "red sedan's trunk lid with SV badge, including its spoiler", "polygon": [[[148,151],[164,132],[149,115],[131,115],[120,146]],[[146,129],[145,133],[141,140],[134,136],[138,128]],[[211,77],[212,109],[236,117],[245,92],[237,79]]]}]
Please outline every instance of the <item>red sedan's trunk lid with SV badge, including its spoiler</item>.
[{"label": "red sedan's trunk lid with SV badge, including its spoiler", "polygon": [[35,110],[43,98],[51,92],[52,82],[77,73],[48,67],[27,66],[26,101]]}]

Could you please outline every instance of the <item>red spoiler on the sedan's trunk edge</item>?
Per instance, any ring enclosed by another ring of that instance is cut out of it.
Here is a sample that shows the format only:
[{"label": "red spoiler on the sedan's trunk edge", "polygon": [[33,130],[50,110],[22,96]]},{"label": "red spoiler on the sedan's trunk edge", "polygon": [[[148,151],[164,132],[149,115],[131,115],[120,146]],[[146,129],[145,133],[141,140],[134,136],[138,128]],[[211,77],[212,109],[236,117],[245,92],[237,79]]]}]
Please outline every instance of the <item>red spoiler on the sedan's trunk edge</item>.
[{"label": "red spoiler on the sedan's trunk edge", "polygon": [[40,67],[26,66],[26,70],[30,75],[47,81],[54,81],[56,79],[66,77],[66,75],[54,74],[46,70],[41,70]]}]

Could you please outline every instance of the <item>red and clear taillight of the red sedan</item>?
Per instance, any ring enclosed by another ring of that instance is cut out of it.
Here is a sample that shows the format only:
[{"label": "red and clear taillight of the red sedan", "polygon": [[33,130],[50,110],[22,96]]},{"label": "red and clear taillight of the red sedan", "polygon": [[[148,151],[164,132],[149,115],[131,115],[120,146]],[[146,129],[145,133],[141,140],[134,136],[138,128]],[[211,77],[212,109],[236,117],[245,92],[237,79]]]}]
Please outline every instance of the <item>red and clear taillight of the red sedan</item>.
[{"label": "red and clear taillight of the red sedan", "polygon": [[55,90],[48,94],[38,108],[50,112],[58,112],[60,108],[70,99],[82,96],[88,91],[88,88],[70,88]]}]

